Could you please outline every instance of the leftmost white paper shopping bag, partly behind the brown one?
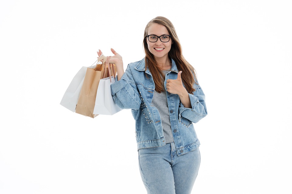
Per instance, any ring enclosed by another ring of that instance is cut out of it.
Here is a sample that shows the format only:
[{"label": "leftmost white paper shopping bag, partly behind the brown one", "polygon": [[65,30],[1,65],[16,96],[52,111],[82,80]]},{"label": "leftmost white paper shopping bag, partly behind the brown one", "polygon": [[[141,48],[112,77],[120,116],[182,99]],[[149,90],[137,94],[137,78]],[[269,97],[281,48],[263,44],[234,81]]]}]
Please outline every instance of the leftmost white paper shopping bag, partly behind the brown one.
[{"label": "leftmost white paper shopping bag, partly behind the brown one", "polygon": [[[96,62],[94,62],[93,64],[95,63]],[[89,68],[92,68],[92,67],[93,66],[90,66]],[[83,85],[86,70],[87,70],[87,67],[83,66],[76,73],[76,75],[73,77],[71,83],[69,84],[60,102],[60,104],[63,107],[69,109],[72,112],[75,112],[76,110],[76,105],[77,105],[79,94]]]}]

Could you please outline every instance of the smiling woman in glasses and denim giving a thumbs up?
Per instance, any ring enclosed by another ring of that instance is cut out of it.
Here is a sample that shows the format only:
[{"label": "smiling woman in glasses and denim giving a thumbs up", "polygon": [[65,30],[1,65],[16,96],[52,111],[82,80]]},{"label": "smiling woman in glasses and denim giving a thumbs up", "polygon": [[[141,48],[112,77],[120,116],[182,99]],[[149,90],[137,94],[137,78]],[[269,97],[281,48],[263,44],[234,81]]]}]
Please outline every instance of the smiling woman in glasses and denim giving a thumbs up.
[{"label": "smiling woman in glasses and denim giving a thumbs up", "polygon": [[192,122],[207,115],[205,96],[168,19],[156,17],[147,24],[143,45],[145,58],[130,63],[125,72],[122,57],[111,49],[109,63],[117,68],[113,99],[119,107],[132,109],[147,192],[191,193],[200,166],[200,142]]}]

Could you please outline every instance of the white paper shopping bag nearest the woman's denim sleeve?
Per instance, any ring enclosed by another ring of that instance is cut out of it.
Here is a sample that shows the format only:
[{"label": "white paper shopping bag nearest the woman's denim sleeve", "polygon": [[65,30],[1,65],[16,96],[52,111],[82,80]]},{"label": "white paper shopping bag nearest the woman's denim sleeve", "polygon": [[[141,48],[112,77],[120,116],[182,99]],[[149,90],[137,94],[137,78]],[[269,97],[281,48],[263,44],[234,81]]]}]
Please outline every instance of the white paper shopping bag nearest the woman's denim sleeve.
[{"label": "white paper shopping bag nearest the woman's denim sleeve", "polygon": [[118,107],[118,105],[113,100],[113,96],[110,90],[111,83],[115,82],[115,78],[113,76],[103,78],[99,81],[99,85],[96,92],[96,101],[93,110],[93,114],[106,114],[113,115],[123,109]]}]

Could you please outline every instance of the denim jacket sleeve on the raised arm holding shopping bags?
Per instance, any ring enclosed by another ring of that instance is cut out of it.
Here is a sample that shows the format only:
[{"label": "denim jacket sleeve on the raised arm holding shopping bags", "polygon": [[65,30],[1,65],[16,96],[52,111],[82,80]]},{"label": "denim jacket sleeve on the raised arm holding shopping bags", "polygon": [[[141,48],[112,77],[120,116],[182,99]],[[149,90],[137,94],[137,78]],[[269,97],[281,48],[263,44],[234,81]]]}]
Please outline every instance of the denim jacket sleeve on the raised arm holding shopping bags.
[{"label": "denim jacket sleeve on the raised arm holding shopping bags", "polygon": [[118,81],[116,77],[115,83],[111,84],[111,92],[113,100],[120,108],[140,108],[141,98],[129,65],[121,79]]}]

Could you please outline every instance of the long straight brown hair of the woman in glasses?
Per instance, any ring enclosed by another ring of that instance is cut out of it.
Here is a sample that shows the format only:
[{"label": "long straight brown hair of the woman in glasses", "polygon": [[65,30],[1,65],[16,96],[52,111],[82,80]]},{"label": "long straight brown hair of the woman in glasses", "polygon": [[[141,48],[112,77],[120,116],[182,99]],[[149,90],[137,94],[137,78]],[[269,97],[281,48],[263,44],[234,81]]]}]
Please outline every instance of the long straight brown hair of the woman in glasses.
[{"label": "long straight brown hair of the woman in glasses", "polygon": [[148,28],[152,23],[157,23],[165,26],[170,33],[172,45],[168,56],[176,62],[177,69],[179,71],[182,71],[182,82],[184,83],[188,93],[192,94],[195,91],[195,88],[193,88],[193,84],[196,83],[196,71],[193,66],[191,66],[189,62],[187,62],[186,59],[182,56],[182,46],[179,43],[179,38],[177,37],[176,30],[174,29],[173,24],[169,21],[169,19],[162,16],[158,16],[148,22],[144,30],[143,40],[143,46],[145,51],[145,71],[148,67],[155,83],[155,90],[160,93],[164,88],[164,84],[161,82],[160,77],[161,75],[163,75],[162,71],[158,68],[157,62],[153,54],[149,51],[147,45]]}]

